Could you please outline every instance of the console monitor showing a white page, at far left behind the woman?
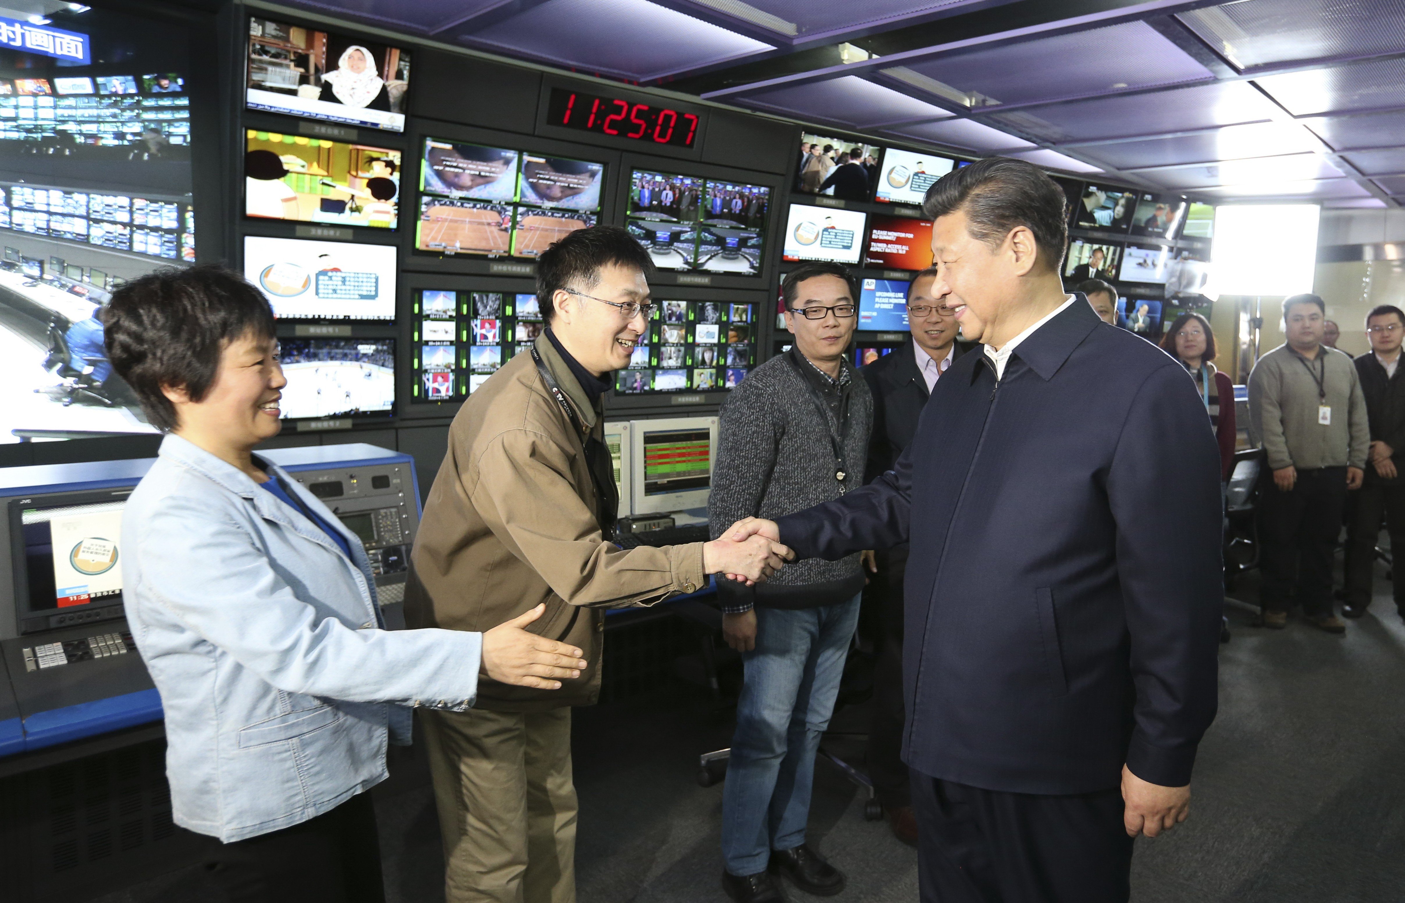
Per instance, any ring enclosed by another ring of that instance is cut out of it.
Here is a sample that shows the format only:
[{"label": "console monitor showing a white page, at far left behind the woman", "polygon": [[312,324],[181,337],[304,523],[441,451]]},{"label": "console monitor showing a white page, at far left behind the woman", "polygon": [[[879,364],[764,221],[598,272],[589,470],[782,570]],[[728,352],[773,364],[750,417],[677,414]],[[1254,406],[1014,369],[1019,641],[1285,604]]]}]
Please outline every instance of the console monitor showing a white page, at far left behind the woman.
[{"label": "console monitor showing a white page, at far left behind the woman", "polygon": [[[122,617],[122,508],[132,487],[10,501],[10,555],[21,633],[60,615]],[[91,612],[91,614],[90,614]]]}]

